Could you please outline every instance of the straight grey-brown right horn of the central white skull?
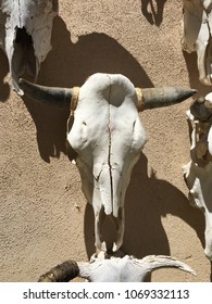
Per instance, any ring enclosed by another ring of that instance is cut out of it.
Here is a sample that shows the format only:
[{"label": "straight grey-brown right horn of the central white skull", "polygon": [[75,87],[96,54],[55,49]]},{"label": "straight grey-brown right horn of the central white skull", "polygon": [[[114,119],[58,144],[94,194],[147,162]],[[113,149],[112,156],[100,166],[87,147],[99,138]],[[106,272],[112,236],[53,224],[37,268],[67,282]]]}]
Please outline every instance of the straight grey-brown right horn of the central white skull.
[{"label": "straight grey-brown right horn of the central white skull", "polygon": [[197,93],[197,90],[182,87],[165,87],[148,89],[136,88],[136,92],[138,97],[138,111],[144,111],[179,103]]}]

